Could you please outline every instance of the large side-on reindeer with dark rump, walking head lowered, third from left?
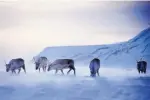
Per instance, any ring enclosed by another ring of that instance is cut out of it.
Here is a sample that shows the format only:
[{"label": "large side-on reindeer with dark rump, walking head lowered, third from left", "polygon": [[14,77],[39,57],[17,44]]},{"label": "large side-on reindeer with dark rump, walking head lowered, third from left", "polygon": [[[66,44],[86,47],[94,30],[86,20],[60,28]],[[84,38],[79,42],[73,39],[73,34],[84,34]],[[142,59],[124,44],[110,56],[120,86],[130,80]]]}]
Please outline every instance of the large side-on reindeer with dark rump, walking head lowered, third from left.
[{"label": "large side-on reindeer with dark rump, walking head lowered, third from left", "polygon": [[48,65],[47,71],[56,70],[55,74],[57,74],[58,70],[60,70],[62,74],[64,75],[63,69],[69,69],[69,71],[67,72],[67,75],[70,73],[71,70],[73,70],[74,75],[76,75],[76,71],[75,71],[76,69],[74,67],[74,60],[72,59],[57,59]]}]

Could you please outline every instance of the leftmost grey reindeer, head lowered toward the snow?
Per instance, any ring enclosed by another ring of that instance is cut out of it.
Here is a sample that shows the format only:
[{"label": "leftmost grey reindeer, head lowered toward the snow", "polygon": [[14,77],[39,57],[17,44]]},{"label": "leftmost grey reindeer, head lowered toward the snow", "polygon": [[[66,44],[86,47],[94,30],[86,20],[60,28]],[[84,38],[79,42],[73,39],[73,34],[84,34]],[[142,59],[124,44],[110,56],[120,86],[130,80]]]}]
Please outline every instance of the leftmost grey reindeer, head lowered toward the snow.
[{"label": "leftmost grey reindeer, head lowered toward the snow", "polygon": [[12,74],[13,73],[16,74],[15,70],[18,70],[18,74],[19,74],[21,71],[21,68],[26,73],[25,63],[22,58],[12,59],[12,60],[10,60],[10,62],[8,64],[6,64],[6,62],[5,62],[5,66],[6,66],[6,72],[9,72],[11,70]]}]

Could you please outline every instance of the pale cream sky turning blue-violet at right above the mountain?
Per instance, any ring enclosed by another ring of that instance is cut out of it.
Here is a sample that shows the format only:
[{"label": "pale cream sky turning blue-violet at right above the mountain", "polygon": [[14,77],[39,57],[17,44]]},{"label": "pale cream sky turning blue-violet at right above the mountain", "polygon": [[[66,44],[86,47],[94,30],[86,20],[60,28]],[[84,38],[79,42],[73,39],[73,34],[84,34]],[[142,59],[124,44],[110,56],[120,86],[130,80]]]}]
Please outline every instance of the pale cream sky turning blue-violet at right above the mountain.
[{"label": "pale cream sky turning blue-violet at right above the mountain", "polygon": [[30,58],[47,46],[127,41],[148,27],[148,7],[149,2],[1,0],[0,60]]}]

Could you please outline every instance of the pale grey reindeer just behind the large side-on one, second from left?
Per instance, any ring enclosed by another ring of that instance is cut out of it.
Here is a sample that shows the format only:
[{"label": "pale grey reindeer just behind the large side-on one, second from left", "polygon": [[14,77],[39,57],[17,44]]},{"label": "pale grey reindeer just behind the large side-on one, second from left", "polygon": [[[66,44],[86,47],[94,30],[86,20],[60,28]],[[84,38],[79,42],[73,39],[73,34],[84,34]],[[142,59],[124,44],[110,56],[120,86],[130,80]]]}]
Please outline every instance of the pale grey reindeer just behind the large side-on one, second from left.
[{"label": "pale grey reindeer just behind the large side-on one, second from left", "polygon": [[43,71],[46,72],[46,67],[48,65],[48,59],[46,57],[39,57],[37,60],[34,59],[35,70],[39,70],[43,68]]}]

